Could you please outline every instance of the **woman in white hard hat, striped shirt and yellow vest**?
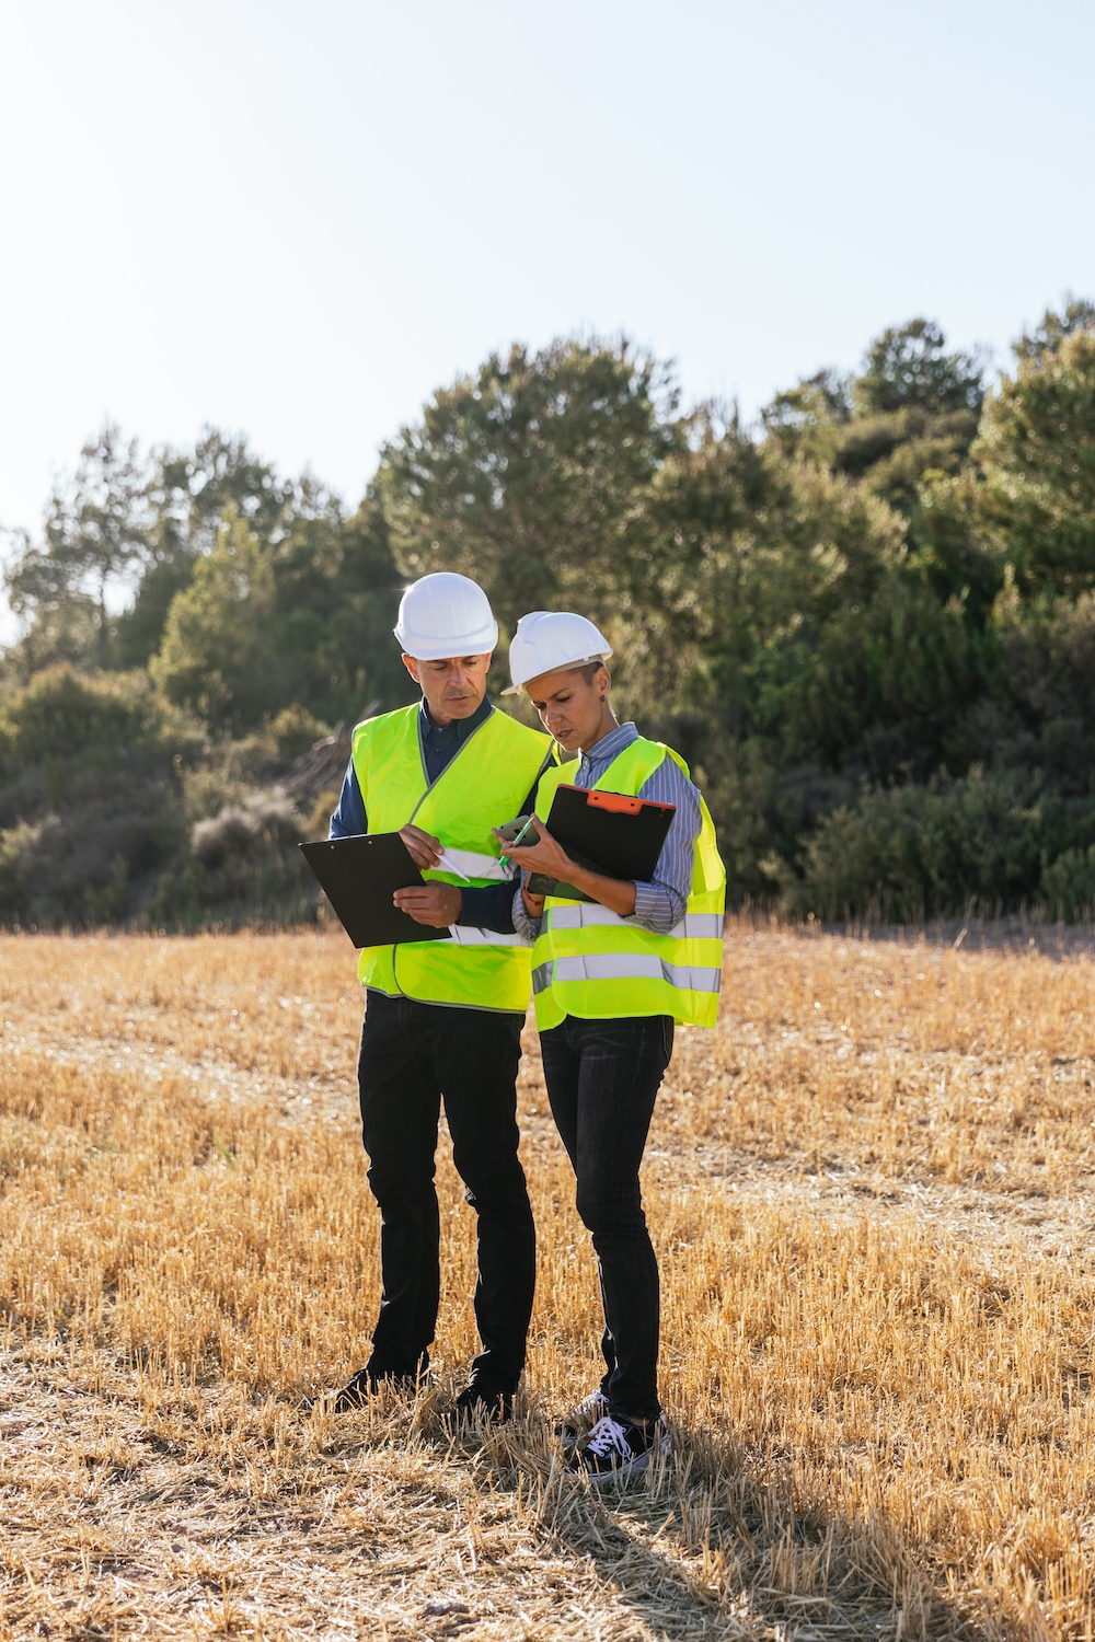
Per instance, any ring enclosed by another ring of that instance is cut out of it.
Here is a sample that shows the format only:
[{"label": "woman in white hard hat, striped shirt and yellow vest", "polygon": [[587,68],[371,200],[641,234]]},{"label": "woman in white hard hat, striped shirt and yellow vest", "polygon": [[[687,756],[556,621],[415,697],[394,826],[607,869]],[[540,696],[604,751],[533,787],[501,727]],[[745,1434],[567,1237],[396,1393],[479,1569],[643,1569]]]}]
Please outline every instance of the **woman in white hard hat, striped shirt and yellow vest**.
[{"label": "woman in white hard hat, striped shirt and yellow vest", "polygon": [[[506,854],[522,867],[514,924],[535,943],[543,1076],[601,1277],[604,1378],[563,1427],[571,1468],[594,1483],[624,1479],[668,1452],[657,1378],[658,1263],[639,1166],[675,1021],[716,1021],[726,892],[711,816],[686,765],[616,721],[611,654],[593,622],[561,611],[524,616],[509,650],[512,688],[524,686],[543,727],[580,755],[540,780],[538,841],[506,846]],[[676,806],[650,883],[611,878],[566,855],[542,819],[561,782]],[[530,872],[589,900],[530,895]]]}]

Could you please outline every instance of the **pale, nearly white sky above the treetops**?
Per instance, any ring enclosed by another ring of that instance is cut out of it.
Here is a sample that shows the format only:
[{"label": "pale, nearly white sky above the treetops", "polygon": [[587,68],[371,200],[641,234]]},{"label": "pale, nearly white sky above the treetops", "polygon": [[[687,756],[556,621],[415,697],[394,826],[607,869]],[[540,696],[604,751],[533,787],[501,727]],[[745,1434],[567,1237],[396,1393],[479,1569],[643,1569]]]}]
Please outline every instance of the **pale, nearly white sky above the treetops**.
[{"label": "pale, nearly white sky above the treetops", "polygon": [[914,314],[1006,363],[1095,296],[1093,64],[1090,0],[0,0],[0,524],[105,415],[353,504],[576,328],[747,415]]}]

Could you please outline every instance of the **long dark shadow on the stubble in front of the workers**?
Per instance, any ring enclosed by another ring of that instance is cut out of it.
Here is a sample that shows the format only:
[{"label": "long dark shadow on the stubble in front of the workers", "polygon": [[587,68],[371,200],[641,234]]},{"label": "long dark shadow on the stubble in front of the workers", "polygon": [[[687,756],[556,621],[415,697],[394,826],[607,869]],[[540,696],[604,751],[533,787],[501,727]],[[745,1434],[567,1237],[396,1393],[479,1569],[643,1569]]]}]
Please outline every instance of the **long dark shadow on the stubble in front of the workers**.
[{"label": "long dark shadow on the stubble in front of the workers", "polygon": [[891,1522],[811,1514],[790,1473],[757,1481],[717,1432],[696,1429],[630,1488],[555,1463],[535,1511],[547,1543],[596,1568],[658,1642],[974,1635]]}]

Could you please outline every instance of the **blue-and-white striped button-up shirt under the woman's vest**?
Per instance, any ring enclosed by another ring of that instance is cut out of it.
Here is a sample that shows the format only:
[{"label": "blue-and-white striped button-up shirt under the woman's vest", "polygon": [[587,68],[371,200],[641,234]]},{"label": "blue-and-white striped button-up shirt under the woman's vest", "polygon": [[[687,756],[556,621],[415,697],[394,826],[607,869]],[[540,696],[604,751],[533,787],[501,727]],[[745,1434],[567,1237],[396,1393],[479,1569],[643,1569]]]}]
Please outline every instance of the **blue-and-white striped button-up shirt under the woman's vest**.
[{"label": "blue-and-white striped button-up shirt under the woman's vest", "polygon": [[[635,726],[617,724],[589,752],[583,752],[578,764],[566,767],[566,780],[573,787],[584,787],[586,790],[596,787],[609,764],[621,755],[624,747],[630,747],[632,741],[639,741]],[[681,921],[688,905],[688,892],[693,882],[693,857],[703,819],[699,814],[699,793],[680,765],[667,757],[653,775],[644,782],[639,796],[660,805],[676,805],[676,814],[670,823],[668,837],[658,855],[653,878],[650,883],[635,883],[635,911],[625,923],[634,923],[640,929],[652,929],[655,934],[668,934]],[[514,929],[527,941],[535,941],[540,934],[540,920],[529,916],[520,890],[514,897]]]}]

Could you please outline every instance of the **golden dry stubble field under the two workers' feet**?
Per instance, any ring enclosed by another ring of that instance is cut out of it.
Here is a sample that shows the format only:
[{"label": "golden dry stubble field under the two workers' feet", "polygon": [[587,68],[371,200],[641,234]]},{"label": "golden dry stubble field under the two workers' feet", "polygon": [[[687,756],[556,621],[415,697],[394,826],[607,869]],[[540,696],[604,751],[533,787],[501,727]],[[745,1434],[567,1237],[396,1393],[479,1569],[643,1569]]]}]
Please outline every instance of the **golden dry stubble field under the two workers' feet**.
[{"label": "golden dry stubble field under the two workers' feet", "polygon": [[1095,964],[731,926],[645,1195],[675,1455],[596,1498],[553,1419],[598,1297],[535,1033],[520,1419],[333,1419],[378,1215],[340,934],[0,938],[0,1637],[1090,1637]]}]

